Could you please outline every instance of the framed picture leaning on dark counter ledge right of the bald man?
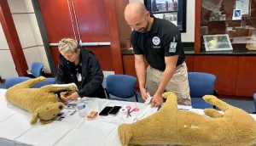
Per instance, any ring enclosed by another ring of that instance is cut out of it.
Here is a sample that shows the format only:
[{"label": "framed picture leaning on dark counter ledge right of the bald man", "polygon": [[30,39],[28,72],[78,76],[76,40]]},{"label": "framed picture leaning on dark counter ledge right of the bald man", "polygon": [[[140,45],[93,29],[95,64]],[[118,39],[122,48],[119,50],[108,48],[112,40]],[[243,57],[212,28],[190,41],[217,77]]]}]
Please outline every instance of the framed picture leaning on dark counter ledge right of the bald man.
[{"label": "framed picture leaning on dark counter ledge right of the bald man", "polygon": [[206,51],[233,50],[229,35],[205,35],[203,37]]}]

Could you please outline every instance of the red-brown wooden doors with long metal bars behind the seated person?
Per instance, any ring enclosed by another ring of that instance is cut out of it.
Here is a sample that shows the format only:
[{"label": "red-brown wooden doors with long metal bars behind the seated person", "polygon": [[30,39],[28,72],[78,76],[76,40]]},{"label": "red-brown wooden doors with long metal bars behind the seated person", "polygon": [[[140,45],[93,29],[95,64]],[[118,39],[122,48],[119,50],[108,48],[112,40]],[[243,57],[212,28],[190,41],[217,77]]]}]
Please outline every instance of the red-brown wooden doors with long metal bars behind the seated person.
[{"label": "red-brown wooden doors with long metal bars behind the seated person", "polygon": [[[87,48],[96,55],[102,70],[123,73],[120,46],[124,46],[125,40],[130,38],[131,34],[131,28],[126,24],[124,16],[125,6],[129,0],[38,2],[49,43],[57,43],[67,37],[78,42],[109,42],[110,45],[89,45]],[[119,32],[123,29],[125,31]],[[58,48],[50,47],[50,51],[55,66],[58,66]]]}]

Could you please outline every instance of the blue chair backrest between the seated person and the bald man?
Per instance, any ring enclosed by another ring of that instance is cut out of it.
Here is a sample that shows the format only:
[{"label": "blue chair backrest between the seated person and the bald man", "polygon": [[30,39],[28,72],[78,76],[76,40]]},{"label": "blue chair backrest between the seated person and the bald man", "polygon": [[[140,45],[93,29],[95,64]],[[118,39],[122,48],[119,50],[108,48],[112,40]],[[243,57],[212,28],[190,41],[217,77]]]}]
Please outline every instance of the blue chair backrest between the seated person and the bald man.
[{"label": "blue chair backrest between the seated person and the bald man", "polygon": [[137,78],[128,75],[109,75],[106,78],[108,93],[119,98],[131,98],[134,96],[134,87]]}]

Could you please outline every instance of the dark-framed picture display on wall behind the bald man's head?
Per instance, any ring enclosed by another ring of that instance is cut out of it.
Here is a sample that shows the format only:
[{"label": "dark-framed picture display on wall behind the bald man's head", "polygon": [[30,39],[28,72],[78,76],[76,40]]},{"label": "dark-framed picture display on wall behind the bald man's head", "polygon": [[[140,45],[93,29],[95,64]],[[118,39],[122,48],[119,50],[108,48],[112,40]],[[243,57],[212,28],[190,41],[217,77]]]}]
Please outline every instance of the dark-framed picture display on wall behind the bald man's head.
[{"label": "dark-framed picture display on wall behind the bald man's head", "polygon": [[144,0],[150,14],[177,25],[181,32],[186,32],[187,0]]}]

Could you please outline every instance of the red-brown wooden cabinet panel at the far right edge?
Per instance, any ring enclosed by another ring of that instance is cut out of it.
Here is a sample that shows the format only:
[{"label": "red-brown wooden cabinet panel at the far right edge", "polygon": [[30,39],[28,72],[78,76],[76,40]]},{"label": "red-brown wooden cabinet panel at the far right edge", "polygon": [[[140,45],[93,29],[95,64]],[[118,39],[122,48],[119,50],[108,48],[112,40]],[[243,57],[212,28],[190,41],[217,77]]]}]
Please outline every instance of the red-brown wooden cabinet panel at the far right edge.
[{"label": "red-brown wooden cabinet panel at the far right edge", "polygon": [[252,97],[256,93],[256,57],[238,58],[236,96]]}]

